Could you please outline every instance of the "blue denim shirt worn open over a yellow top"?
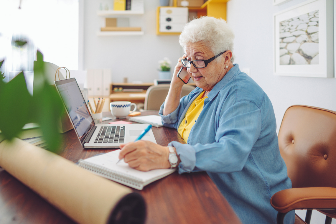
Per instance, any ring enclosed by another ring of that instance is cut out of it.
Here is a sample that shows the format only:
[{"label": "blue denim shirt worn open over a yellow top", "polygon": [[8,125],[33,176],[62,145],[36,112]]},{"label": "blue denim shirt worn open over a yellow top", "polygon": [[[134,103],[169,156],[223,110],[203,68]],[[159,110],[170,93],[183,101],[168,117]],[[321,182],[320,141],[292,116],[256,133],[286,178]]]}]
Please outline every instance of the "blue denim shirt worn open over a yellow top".
[{"label": "blue denim shirt worn open over a yellow top", "polygon": [[[166,127],[177,129],[197,87],[180,99],[169,115],[159,115]],[[180,156],[178,172],[206,171],[243,223],[276,223],[271,196],[291,188],[279,151],[273,106],[265,92],[234,64],[209,92],[187,144],[173,141]],[[294,223],[294,211],[285,223]]]}]

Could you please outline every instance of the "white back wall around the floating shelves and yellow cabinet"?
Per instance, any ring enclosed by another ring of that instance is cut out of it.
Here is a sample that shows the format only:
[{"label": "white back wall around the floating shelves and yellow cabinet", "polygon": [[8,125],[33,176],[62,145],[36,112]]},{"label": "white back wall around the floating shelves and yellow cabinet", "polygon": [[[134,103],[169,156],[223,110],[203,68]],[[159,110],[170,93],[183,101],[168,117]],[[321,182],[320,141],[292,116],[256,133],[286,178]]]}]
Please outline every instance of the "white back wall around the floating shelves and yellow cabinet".
[{"label": "white back wall around the floating shelves and yellow cabinet", "polygon": [[[141,26],[143,36],[98,37],[96,33],[104,26],[97,15],[100,2],[112,7],[112,1],[84,1],[84,69],[112,69],[112,81],[153,82],[158,78],[158,61],[168,57],[172,66],[182,51],[178,36],[156,35],[156,9],[159,0],[144,0],[145,14],[131,16],[130,26]],[[181,55],[182,56],[182,55]]]}]

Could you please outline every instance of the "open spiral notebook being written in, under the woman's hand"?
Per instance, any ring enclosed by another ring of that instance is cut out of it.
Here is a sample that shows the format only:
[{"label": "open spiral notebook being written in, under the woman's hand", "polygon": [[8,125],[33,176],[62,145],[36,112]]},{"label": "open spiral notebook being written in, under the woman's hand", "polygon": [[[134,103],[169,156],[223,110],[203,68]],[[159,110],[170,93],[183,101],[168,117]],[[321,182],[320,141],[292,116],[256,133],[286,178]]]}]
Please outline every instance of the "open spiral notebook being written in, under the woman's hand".
[{"label": "open spiral notebook being written in, under the woman's hand", "polygon": [[116,181],[118,183],[142,190],[144,186],[161,179],[175,171],[175,169],[156,169],[147,172],[130,168],[124,160],[119,160],[119,152],[115,150],[105,154],[79,160],[78,166],[87,169],[99,176]]}]

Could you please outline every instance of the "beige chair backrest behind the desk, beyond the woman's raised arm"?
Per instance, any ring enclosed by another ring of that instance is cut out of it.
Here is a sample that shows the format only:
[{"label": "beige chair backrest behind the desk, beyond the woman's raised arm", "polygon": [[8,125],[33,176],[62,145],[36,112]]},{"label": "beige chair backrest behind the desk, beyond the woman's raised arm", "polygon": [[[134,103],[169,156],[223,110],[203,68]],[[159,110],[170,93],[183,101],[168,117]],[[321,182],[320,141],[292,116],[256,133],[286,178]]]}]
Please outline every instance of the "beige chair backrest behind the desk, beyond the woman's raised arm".
[{"label": "beige chair backrest behind the desk, beyond the woman's raised arm", "polygon": [[[170,84],[159,84],[157,86],[150,86],[147,89],[144,109],[145,110],[159,110],[162,103],[165,101],[169,91]],[[195,89],[192,85],[183,85],[181,97],[188,95]]]}]

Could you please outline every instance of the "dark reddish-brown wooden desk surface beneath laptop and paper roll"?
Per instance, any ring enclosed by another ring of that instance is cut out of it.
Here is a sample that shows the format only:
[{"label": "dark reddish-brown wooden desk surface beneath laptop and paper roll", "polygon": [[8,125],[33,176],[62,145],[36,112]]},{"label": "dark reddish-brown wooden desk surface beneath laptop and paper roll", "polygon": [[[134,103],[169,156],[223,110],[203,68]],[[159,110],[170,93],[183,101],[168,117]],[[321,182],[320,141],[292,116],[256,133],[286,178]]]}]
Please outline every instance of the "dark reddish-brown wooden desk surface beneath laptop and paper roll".
[{"label": "dark reddish-brown wooden desk surface beneath laptop and paper roll", "polygon": [[[150,114],[157,112],[142,112],[142,115]],[[111,113],[107,112],[104,116],[112,117]],[[108,122],[111,120],[104,123]],[[163,146],[167,146],[171,141],[183,142],[175,129],[153,127],[153,133],[157,143]],[[74,130],[64,134],[62,149],[60,155],[73,162],[111,151],[111,149],[84,149]],[[182,175],[175,172],[145,186],[143,190],[131,189],[140,193],[146,201],[147,224],[241,223],[205,172]],[[0,223],[74,224],[75,222],[5,170],[0,169]]]}]

